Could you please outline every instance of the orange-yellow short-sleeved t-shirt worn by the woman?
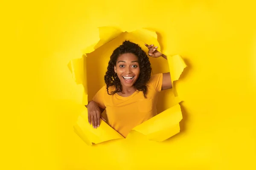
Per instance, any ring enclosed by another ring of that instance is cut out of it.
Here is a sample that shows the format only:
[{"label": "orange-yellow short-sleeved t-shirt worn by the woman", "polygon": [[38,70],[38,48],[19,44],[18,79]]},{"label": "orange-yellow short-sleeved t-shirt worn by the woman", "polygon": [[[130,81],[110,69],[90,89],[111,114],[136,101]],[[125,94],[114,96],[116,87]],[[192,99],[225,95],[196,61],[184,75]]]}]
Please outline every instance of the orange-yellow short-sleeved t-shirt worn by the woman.
[{"label": "orange-yellow short-sleeved t-shirt worn by the woman", "polygon": [[[128,97],[109,95],[106,85],[93,97],[99,107],[106,109],[109,125],[126,137],[131,129],[157,114],[157,94],[161,91],[163,74],[154,74],[148,82],[147,99],[142,91]],[[109,93],[115,87],[109,87]]]}]

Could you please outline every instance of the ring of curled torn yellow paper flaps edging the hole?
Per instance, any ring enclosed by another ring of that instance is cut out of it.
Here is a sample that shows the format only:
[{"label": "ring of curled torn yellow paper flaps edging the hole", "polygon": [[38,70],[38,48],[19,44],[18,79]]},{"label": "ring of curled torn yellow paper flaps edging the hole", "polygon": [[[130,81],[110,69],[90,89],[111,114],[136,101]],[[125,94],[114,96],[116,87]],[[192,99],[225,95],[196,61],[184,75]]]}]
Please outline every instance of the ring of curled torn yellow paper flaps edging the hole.
[{"label": "ring of curled torn yellow paper flaps edging the hole", "polygon": [[[90,45],[89,47],[84,49],[84,53],[88,54],[96,50],[102,45],[110,42],[111,40],[118,37],[122,34],[121,31],[112,28],[112,27],[101,27],[99,28],[99,42]],[[155,31],[151,31],[145,28],[138,29],[136,31],[129,32],[135,38],[140,41],[143,41],[147,44],[154,44],[158,46],[158,50],[160,51],[159,42],[157,42],[157,34]],[[86,64],[86,57],[84,56],[81,59],[73,59],[69,62],[68,67],[73,74],[73,78],[78,85],[84,85],[84,97],[83,97],[83,105],[87,105],[87,73],[84,66]],[[180,74],[183,72],[183,69],[186,67],[183,59],[179,55],[171,56],[167,55],[168,65],[170,74],[172,77],[172,84],[174,85],[174,81],[177,81],[180,77]],[[175,87],[173,87],[175,88]],[[177,92],[174,89],[175,96],[177,96]],[[180,101],[179,101],[180,102]],[[179,122],[182,119],[182,113],[180,110],[180,105],[177,103],[173,107],[163,111],[162,113],[154,116],[146,122],[134,127],[133,130],[142,133],[147,136],[149,140],[154,141],[164,141],[171,136],[180,132]],[[116,130],[110,127],[107,123],[101,120],[100,126],[97,129],[94,129],[92,125],[88,123],[87,118],[87,109],[85,108],[84,112],[78,117],[76,125],[74,125],[74,131],[77,135],[88,145],[98,144],[101,142],[113,140],[113,139],[124,139],[122,135],[120,135]]]}]

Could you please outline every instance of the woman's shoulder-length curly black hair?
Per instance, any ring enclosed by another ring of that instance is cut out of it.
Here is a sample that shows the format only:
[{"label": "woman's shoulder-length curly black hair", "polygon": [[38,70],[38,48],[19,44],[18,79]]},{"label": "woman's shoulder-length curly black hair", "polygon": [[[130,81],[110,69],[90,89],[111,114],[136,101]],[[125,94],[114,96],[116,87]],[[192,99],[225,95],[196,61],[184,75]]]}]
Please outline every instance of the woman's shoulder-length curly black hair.
[{"label": "woman's shoulder-length curly black hair", "polygon": [[140,75],[134,83],[134,87],[138,91],[143,91],[143,95],[146,98],[147,83],[151,77],[151,64],[145,51],[143,51],[143,49],[138,44],[135,44],[134,42],[130,42],[128,40],[125,40],[122,45],[120,45],[113,51],[113,54],[110,57],[110,61],[108,62],[108,70],[106,71],[106,74],[104,76],[104,80],[107,85],[107,91],[108,88],[113,85],[116,87],[115,91],[112,91],[111,93],[109,93],[108,91],[108,94],[113,95],[117,92],[122,92],[122,85],[119,78],[117,77],[117,74],[114,71],[114,66],[116,65],[117,58],[120,55],[126,53],[132,53],[136,55],[139,59]]}]

